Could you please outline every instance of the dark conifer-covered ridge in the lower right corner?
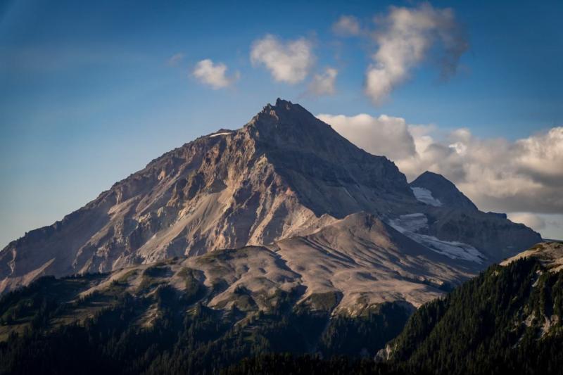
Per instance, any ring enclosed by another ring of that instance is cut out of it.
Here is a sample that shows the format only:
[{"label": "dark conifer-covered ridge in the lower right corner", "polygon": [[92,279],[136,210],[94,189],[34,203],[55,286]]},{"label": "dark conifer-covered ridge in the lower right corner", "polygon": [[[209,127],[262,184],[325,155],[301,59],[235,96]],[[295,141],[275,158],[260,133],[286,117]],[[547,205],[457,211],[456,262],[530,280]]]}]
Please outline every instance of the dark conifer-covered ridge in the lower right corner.
[{"label": "dark conifer-covered ridge in the lower right corner", "polygon": [[563,243],[539,243],[422,306],[379,357],[428,374],[561,374]]}]

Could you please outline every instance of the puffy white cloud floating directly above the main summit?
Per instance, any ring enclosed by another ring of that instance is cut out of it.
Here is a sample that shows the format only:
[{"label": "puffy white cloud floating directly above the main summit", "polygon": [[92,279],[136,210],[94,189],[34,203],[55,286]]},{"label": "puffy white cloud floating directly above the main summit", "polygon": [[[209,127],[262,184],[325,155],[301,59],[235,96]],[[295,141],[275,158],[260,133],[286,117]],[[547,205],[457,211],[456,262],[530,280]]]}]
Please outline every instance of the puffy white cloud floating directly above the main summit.
[{"label": "puffy white cloud floating directly above the main summit", "polygon": [[268,34],[253,43],[251,63],[264,65],[277,82],[296,84],[309,74],[315,63],[315,55],[308,39],[284,42]]}]

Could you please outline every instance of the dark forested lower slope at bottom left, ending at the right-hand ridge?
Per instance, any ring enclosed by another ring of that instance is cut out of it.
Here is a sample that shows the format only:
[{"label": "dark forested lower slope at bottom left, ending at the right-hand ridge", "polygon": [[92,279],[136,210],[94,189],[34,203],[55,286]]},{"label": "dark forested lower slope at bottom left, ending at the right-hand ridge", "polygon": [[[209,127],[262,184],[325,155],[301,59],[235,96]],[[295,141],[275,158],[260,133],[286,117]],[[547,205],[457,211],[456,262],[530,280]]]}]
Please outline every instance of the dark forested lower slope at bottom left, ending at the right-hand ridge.
[{"label": "dark forested lower slope at bottom left, ending at the right-hand ridge", "polygon": [[187,272],[185,293],[159,285],[159,272],[146,269],[135,295],[124,280],[74,298],[103,278],[89,275],[44,277],[4,296],[0,373],[201,374],[267,352],[373,356],[410,314],[385,303],[359,317],[331,318],[337,296],[330,293],[314,296],[315,310],[280,293],[271,312],[243,311],[253,303],[243,290],[234,307],[214,310],[201,303],[207,292]]}]

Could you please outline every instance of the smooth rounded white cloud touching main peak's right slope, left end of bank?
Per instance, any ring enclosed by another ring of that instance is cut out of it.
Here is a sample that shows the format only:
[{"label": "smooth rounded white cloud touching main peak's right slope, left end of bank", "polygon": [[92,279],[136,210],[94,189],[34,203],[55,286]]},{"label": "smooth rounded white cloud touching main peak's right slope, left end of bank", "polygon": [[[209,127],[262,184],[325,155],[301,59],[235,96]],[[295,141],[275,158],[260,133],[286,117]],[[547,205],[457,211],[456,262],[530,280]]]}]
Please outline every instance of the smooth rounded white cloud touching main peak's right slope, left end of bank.
[{"label": "smooth rounded white cloud touching main peak's right slope, left end of bank", "polygon": [[317,117],[369,153],[386,155],[392,160],[409,158],[416,153],[414,140],[403,118],[373,117],[365,113],[355,116],[320,114]]}]

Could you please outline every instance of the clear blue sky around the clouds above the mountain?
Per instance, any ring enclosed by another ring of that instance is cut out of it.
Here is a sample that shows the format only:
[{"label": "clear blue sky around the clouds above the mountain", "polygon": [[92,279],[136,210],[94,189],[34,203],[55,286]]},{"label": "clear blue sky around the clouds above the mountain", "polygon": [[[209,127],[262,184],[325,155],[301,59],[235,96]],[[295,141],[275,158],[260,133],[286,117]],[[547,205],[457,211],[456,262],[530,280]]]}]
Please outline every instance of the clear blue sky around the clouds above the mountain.
[{"label": "clear blue sky around the clouds above the mountain", "polygon": [[[61,219],[171,148],[240,127],[277,97],[314,114],[432,124],[434,138],[463,127],[510,143],[563,125],[561,1],[432,1],[453,9],[467,36],[457,73],[441,80],[426,53],[378,106],[364,90],[377,42],[339,37],[333,25],[351,15],[377,30],[373,18],[386,17],[389,6],[422,3],[343,3],[1,1],[0,246]],[[253,43],[266,34],[310,42],[307,79],[276,82],[251,63]],[[170,64],[178,53],[183,58]],[[239,79],[222,89],[202,84],[193,72],[203,59]],[[327,67],[338,70],[335,93],[310,94],[310,77]],[[491,208],[503,208],[498,202]],[[563,211],[532,213],[543,218],[545,236],[563,237]]]}]

